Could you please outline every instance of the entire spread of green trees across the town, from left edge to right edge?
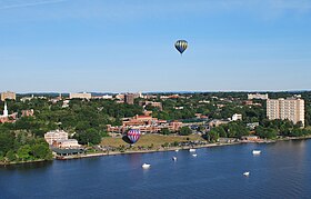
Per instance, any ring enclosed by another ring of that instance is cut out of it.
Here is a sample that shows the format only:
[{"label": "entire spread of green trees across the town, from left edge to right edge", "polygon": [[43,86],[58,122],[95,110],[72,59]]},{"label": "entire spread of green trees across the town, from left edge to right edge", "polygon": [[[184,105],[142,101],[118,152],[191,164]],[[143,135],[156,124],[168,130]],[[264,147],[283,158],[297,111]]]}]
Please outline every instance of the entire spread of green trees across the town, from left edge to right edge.
[{"label": "entire spread of green trees across the town, from left edge to right edge", "polygon": [[[169,93],[167,93],[168,96]],[[189,120],[195,118],[195,113],[205,116],[208,120],[228,119],[234,113],[243,116],[242,121],[230,122],[208,132],[210,141],[217,141],[219,137],[241,138],[249,135],[247,123],[259,122],[260,126],[253,133],[262,138],[275,138],[278,136],[305,136],[310,135],[311,125],[311,91],[305,92],[269,92],[271,99],[287,98],[301,94],[305,101],[305,128],[293,125],[290,121],[269,121],[265,118],[265,101],[252,100],[247,103],[245,92],[202,92],[184,93],[179,98],[163,99],[157,93],[152,101],[161,102],[162,110],[147,106],[144,109],[152,110],[152,116],[159,119]],[[44,142],[43,135],[54,129],[63,129],[77,138],[82,145],[98,145],[107,136],[107,125],[119,126],[122,118],[142,115],[143,107],[136,99],[136,105],[118,103],[116,100],[70,100],[68,106],[64,100],[53,101],[53,97],[33,98],[21,101],[7,101],[9,113],[18,112],[14,123],[0,125],[0,161],[28,161],[34,159],[50,159],[51,151]],[[3,102],[0,102],[2,112]],[[21,117],[22,110],[34,110],[33,117]],[[208,121],[204,120],[204,121]],[[198,128],[203,131],[204,128]],[[182,128],[180,135],[191,133],[191,129]],[[162,135],[171,133],[168,129],[160,131]]]}]

